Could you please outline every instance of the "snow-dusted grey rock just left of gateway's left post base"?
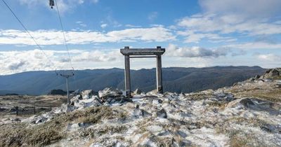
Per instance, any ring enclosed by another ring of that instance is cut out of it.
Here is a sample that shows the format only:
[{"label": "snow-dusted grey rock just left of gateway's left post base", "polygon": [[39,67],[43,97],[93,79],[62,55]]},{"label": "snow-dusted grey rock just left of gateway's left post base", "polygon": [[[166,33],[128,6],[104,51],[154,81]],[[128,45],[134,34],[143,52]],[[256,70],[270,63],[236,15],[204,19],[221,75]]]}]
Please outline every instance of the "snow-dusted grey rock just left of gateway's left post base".
[{"label": "snow-dusted grey rock just left of gateway's left post base", "polygon": [[117,97],[124,97],[122,95],[122,91],[121,90],[117,90],[117,89],[113,89],[112,87],[108,88],[106,87],[104,90],[100,90],[98,91],[98,96],[100,97],[100,99],[102,99],[104,102],[108,99],[108,98],[117,98]]}]

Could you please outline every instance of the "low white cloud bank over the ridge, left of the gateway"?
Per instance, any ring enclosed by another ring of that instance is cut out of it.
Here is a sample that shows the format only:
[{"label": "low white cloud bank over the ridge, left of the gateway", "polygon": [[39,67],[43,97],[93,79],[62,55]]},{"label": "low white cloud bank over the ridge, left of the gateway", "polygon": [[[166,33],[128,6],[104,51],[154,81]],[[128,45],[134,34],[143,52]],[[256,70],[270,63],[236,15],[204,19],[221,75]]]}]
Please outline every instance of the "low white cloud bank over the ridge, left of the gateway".
[{"label": "low white cloud bank over the ridge, left of the gateway", "polygon": [[[55,70],[71,69],[64,50],[18,50],[18,51],[0,51],[0,73],[18,73],[22,71],[34,70]],[[93,68],[95,64],[109,64],[122,60],[119,50],[98,51],[98,50],[70,50],[72,64],[75,69]],[[103,66],[96,66],[101,68]]]}]

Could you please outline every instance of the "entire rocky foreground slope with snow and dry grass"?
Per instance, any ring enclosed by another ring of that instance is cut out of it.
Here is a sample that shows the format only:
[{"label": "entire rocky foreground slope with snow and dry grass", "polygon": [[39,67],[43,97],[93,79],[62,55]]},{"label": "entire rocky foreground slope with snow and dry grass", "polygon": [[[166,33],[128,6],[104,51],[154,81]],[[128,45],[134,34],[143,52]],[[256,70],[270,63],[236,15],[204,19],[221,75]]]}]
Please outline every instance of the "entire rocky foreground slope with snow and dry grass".
[{"label": "entire rocky foreground slope with snow and dry grass", "polygon": [[0,146],[281,146],[281,69],[176,94],[76,91],[71,104],[0,125]]}]

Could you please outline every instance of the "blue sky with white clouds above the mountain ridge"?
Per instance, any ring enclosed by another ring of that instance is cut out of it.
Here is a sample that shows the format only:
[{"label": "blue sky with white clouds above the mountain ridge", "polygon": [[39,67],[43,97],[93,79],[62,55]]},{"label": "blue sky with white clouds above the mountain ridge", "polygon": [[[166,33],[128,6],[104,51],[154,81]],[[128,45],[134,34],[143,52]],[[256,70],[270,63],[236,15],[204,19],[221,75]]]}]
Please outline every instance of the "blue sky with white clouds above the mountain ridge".
[{"label": "blue sky with white clouds above the mountain ridge", "polygon": [[[0,75],[124,68],[124,46],[166,48],[164,67],[281,66],[280,0],[5,1],[42,50],[1,0]],[[131,59],[131,69],[155,66]]]}]

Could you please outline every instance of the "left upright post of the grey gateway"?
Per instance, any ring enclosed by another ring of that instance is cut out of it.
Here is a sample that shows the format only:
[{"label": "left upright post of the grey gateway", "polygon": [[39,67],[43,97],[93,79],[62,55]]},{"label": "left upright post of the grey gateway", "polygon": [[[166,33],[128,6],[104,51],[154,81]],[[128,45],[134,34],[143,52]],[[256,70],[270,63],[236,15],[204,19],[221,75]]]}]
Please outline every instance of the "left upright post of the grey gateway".
[{"label": "left upright post of the grey gateway", "polygon": [[[129,50],[129,47],[125,47]],[[130,57],[125,55],[125,90],[126,97],[131,97],[131,76],[130,76]]]}]

